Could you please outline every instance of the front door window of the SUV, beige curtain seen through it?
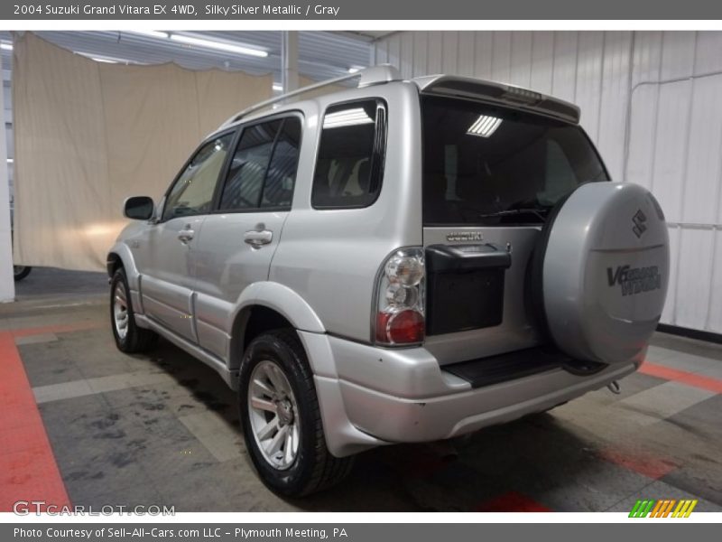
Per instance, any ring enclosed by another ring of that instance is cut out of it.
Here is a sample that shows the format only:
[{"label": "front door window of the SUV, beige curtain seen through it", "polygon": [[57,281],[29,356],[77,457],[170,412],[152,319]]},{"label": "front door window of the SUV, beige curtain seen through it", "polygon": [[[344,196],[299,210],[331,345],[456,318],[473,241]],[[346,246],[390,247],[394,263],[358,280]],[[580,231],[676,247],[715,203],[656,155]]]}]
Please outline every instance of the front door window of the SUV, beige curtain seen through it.
[{"label": "front door window of the SUV, beige curtain seen through it", "polygon": [[211,210],[218,173],[226,161],[232,139],[233,134],[221,135],[200,147],[173,184],[165,202],[162,220]]}]

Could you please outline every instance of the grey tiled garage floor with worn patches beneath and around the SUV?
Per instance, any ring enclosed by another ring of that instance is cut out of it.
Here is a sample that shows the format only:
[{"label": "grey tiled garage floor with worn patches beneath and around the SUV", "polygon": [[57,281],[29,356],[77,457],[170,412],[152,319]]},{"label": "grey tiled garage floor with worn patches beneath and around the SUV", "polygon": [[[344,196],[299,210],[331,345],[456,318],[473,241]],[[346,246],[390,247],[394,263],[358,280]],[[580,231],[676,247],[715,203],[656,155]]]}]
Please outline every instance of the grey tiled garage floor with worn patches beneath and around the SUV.
[{"label": "grey tiled garage floor with worn patches beneath and around the SUV", "polygon": [[105,282],[81,277],[85,294],[59,295],[52,288],[59,273],[48,272],[40,293],[20,285],[21,301],[0,306],[0,334],[12,334],[73,504],[629,511],[637,499],[671,498],[722,511],[718,345],[657,334],[648,360],[663,378],[636,373],[619,396],[589,393],[458,439],[454,453],[438,444],[376,449],[360,455],[337,488],[282,500],[256,478],[236,396],[217,374],[166,341],[147,356],[120,353],[106,295],[94,294]]}]

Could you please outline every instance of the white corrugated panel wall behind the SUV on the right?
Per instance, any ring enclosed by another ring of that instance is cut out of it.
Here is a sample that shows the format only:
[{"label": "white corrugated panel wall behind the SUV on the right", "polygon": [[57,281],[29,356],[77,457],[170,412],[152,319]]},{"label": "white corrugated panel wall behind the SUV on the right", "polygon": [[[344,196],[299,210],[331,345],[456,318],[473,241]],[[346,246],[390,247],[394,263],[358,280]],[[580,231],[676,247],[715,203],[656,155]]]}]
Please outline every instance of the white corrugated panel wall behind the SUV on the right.
[{"label": "white corrugated panel wall behind the SUV on the right", "polygon": [[403,32],[371,62],[578,104],[612,177],[651,189],[669,221],[662,322],[722,333],[721,32]]}]

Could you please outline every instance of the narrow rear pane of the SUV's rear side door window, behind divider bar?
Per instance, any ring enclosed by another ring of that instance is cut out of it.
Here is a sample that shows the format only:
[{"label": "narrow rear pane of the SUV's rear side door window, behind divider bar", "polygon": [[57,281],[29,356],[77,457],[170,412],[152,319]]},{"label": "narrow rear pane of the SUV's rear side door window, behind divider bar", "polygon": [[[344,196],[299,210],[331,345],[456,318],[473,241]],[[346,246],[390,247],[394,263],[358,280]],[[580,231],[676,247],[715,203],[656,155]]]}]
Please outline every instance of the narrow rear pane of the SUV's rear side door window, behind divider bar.
[{"label": "narrow rear pane of the SUV's rear side door window, behind divider bar", "polygon": [[301,147],[301,120],[288,117],[283,120],[276,138],[271,164],[265,176],[261,207],[291,207],[296,168]]}]

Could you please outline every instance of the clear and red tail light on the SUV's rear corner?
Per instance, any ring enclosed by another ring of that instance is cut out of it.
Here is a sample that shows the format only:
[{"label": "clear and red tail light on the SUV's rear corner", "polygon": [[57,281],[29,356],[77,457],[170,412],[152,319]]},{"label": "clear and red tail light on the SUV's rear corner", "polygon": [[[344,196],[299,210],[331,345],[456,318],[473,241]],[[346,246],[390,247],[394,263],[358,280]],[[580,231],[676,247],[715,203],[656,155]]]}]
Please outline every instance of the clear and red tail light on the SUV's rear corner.
[{"label": "clear and red tail light on the SUV's rear corner", "polygon": [[376,284],[373,339],[409,345],[424,339],[423,248],[402,248],[384,262]]}]

